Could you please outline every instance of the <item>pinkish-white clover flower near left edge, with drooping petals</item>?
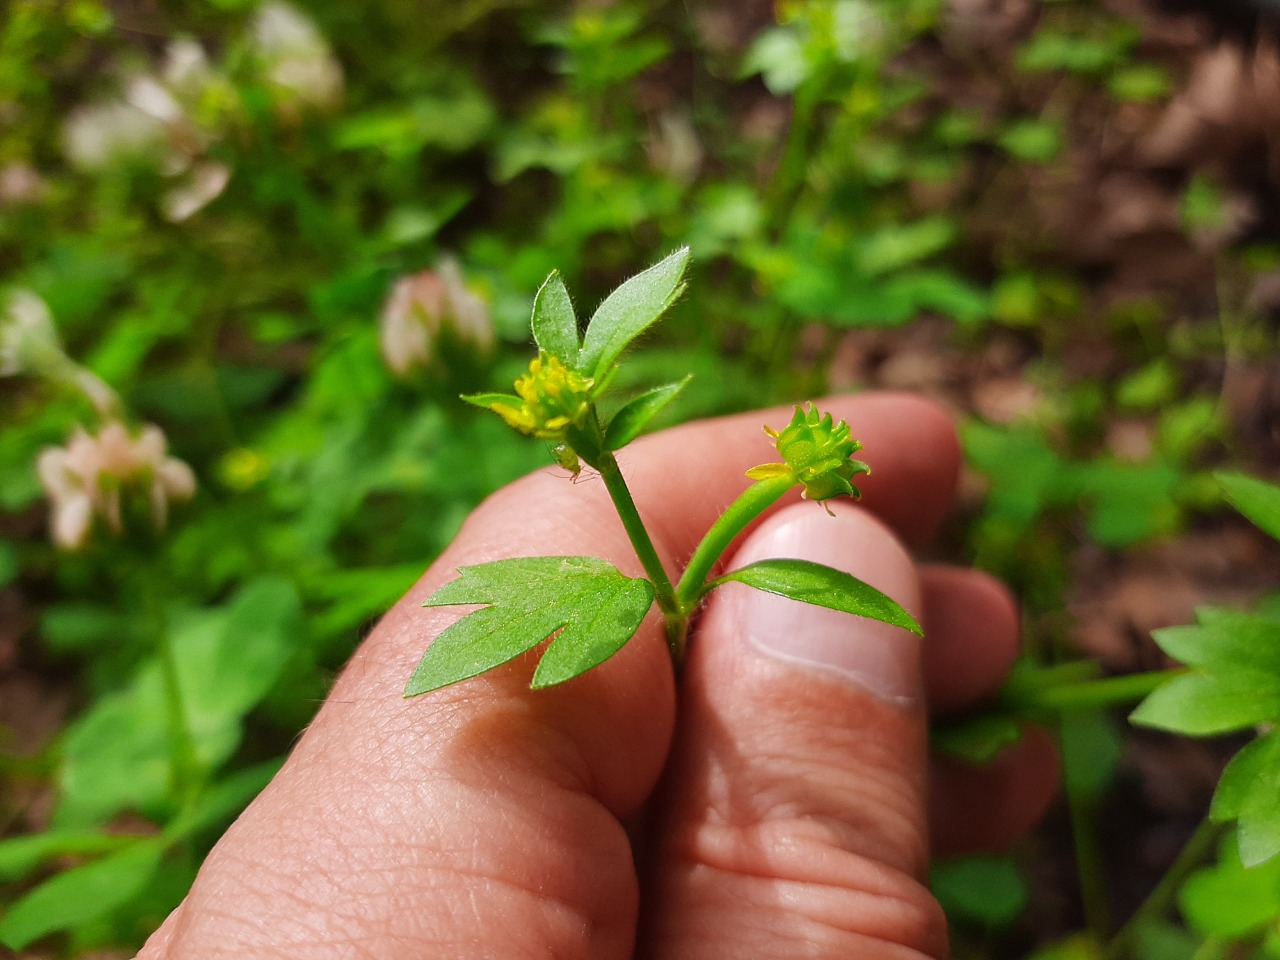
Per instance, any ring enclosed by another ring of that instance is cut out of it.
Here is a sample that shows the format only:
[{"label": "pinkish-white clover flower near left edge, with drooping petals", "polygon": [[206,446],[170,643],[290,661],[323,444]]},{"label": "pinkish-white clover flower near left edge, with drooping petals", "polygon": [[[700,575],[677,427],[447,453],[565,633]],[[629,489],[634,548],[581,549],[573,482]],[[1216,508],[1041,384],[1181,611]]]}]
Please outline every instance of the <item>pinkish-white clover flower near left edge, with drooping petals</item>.
[{"label": "pinkish-white clover flower near left edge, with drooping petals", "polygon": [[147,498],[152,525],[164,529],[169,502],[187,500],[196,493],[196,475],[180,460],[166,456],[166,445],[159,426],[148,424],[133,436],[113,421],[96,436],[77,428],[67,447],[45,449],[36,470],[52,502],[54,543],[67,549],[83,547],[95,517],[122,532],[122,498],[131,493]]}]

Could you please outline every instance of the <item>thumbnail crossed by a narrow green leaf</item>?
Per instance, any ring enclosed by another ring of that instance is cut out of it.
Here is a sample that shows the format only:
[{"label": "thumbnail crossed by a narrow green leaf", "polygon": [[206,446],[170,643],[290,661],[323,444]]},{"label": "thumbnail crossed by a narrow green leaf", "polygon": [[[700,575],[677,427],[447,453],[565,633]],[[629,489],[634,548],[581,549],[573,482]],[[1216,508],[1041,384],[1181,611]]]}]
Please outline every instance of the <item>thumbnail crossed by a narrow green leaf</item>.
[{"label": "thumbnail crossed by a narrow green leaf", "polygon": [[[841,508],[832,517],[812,503],[787,507],[748,538],[732,564],[783,557],[852,573],[919,614],[919,584],[910,557],[864,511]],[[909,704],[919,699],[920,644],[914,634],[740,584],[730,586],[735,593],[724,598],[726,612],[737,636],[758,653],[838,675],[882,700]]]}]

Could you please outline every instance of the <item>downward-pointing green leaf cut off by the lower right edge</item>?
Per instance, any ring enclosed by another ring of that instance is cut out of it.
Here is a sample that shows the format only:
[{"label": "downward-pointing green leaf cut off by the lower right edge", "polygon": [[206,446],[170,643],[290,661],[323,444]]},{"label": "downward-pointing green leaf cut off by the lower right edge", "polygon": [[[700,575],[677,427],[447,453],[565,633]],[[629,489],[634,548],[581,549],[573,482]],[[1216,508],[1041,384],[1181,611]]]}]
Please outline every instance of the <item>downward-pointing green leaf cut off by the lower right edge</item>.
[{"label": "downward-pointing green leaf cut off by the lower right edge", "polygon": [[1243,748],[1222,771],[1210,815],[1239,820],[1240,861],[1256,867],[1280,856],[1280,731]]}]

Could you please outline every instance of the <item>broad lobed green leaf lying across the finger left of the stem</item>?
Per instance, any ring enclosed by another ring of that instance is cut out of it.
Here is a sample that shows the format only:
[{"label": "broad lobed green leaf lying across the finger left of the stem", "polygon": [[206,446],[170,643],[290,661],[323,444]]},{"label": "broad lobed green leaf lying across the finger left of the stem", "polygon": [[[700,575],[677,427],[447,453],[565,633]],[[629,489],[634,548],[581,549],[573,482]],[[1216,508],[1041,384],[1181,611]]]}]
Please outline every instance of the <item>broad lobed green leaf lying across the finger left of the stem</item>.
[{"label": "broad lobed green leaf lying across the finger left of the stem", "polygon": [[[580,663],[613,645],[609,654],[582,667],[589,669],[635,635],[653,602],[649,581],[632,580],[595,557],[516,557],[462,567],[458,573],[422,605],[488,605],[435,637],[410,677],[404,696],[475,677],[534,649],[557,631],[562,631],[557,643],[568,644],[566,653],[577,649]],[[584,637],[585,631],[595,630],[600,635]],[[585,655],[582,649],[595,653]],[[554,668],[556,663],[549,669],[558,678],[552,682],[568,680]]]}]

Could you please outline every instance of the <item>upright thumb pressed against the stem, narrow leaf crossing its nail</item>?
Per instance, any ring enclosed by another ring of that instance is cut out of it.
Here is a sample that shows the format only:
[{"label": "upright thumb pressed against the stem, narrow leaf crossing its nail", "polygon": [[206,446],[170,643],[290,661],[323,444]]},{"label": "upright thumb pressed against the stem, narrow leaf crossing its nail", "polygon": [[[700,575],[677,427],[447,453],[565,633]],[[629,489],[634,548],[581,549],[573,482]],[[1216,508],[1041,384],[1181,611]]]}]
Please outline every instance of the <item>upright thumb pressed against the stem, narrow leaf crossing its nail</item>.
[{"label": "upright thumb pressed against the stem, narrow leaf crossing its nail", "polygon": [[[731,566],[778,557],[850,572],[919,616],[910,558],[855,507],[787,507]],[[945,920],[923,886],[918,639],[728,584],[712,594],[686,671],[646,952],[945,956]]]}]

